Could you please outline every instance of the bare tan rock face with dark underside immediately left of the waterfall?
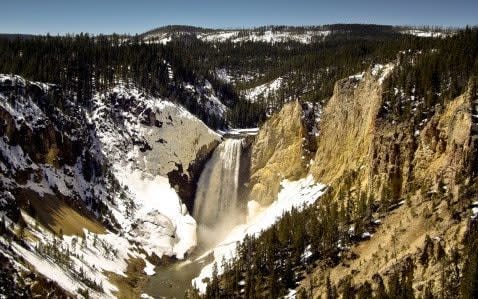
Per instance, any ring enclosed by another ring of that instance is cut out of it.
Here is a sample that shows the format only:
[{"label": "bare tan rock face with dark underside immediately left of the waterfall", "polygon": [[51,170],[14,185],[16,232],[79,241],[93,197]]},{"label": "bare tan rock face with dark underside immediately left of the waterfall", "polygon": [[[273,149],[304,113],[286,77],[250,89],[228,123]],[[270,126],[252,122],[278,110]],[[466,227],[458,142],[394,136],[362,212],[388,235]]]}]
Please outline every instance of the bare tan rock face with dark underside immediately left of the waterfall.
[{"label": "bare tan rock face with dark underside immediately left of the waterfall", "polygon": [[140,154],[139,167],[153,175],[167,176],[192,212],[199,176],[221,138],[172,103],[151,108],[146,118],[149,122],[142,122],[141,131],[148,150]]}]

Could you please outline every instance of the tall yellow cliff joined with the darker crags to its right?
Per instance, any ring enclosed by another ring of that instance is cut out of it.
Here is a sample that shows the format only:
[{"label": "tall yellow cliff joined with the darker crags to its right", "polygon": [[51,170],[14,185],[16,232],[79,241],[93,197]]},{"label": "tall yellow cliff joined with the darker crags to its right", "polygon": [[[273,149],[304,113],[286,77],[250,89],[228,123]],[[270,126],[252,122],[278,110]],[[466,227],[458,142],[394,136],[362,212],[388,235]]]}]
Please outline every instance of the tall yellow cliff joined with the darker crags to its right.
[{"label": "tall yellow cliff joined with the darker crags to its right", "polygon": [[375,199],[398,200],[425,185],[453,185],[473,157],[469,93],[417,124],[413,115],[405,120],[381,115],[383,79],[368,71],[336,83],[321,115],[310,173],[319,182],[359,188]]}]

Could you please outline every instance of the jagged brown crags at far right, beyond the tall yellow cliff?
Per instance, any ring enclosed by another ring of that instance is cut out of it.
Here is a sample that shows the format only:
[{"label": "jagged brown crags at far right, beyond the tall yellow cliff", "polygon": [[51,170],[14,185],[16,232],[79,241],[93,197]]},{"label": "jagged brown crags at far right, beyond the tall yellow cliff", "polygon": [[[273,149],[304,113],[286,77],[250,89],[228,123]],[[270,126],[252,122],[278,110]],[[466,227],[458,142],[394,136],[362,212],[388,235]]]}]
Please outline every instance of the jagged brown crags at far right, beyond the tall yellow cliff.
[{"label": "jagged brown crags at far right, beyond the tall yellow cliff", "polygon": [[398,199],[425,186],[432,191],[438,185],[455,188],[463,178],[457,176],[464,175],[471,162],[471,125],[467,93],[438,108],[422,128],[414,126],[413,119],[399,123],[379,119],[368,169],[369,191]]}]

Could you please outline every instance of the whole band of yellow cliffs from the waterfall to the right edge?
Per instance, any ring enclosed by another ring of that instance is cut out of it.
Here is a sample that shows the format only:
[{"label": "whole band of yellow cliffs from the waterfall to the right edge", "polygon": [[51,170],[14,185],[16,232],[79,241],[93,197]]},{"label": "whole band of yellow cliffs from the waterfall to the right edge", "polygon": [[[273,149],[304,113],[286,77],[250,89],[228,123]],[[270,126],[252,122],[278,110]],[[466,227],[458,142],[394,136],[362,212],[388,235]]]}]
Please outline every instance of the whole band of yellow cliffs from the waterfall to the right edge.
[{"label": "whole band of yellow cliffs from the waterfall to the right edge", "polygon": [[270,204],[283,179],[312,174],[341,189],[354,187],[375,199],[402,198],[418,187],[445,182],[470,163],[470,96],[448,101],[420,131],[413,119],[379,117],[383,78],[372,71],[339,80],[321,113],[313,163],[298,102],[289,103],[261,128],[252,148],[249,199]]}]

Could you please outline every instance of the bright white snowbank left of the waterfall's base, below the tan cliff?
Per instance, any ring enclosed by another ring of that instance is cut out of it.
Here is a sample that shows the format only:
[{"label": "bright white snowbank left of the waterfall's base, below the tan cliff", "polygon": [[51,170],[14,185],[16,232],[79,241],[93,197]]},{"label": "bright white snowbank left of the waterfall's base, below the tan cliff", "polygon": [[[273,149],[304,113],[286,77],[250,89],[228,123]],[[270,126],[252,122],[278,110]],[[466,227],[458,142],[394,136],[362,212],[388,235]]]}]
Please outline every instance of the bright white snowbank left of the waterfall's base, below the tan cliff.
[{"label": "bright white snowbank left of the waterfall's base, below the tan cliff", "polygon": [[[196,246],[196,221],[185,213],[168,179],[121,165],[114,168],[120,184],[128,187],[137,207],[132,217],[135,228],[130,234],[149,255],[184,258]],[[123,208],[126,212],[127,207]]]}]

